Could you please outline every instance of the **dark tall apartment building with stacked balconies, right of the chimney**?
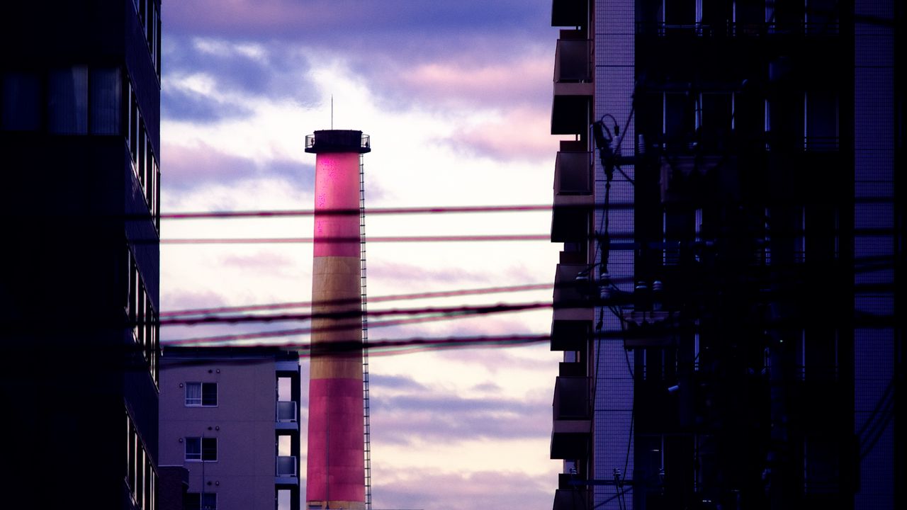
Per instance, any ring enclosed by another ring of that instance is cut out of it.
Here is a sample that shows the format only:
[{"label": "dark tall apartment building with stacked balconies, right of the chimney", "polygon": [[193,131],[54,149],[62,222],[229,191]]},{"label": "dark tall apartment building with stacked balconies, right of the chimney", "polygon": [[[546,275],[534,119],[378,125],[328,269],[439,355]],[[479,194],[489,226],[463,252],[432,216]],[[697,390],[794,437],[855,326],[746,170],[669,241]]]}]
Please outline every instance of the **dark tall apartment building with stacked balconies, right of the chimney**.
[{"label": "dark tall apartment building with stacked balconies, right of the chimney", "polygon": [[903,505],[903,6],[551,21],[554,508]]}]

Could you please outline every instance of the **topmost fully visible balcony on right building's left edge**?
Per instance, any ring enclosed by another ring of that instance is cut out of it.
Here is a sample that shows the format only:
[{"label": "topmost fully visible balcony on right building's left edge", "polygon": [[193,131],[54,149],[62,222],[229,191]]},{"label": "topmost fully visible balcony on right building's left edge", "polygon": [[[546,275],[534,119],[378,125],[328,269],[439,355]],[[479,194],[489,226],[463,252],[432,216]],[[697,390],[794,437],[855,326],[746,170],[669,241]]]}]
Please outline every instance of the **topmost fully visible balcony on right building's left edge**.
[{"label": "topmost fully visible balcony on right building's left edge", "polygon": [[561,30],[554,53],[551,134],[578,134],[591,124],[592,44],[577,30]]}]

